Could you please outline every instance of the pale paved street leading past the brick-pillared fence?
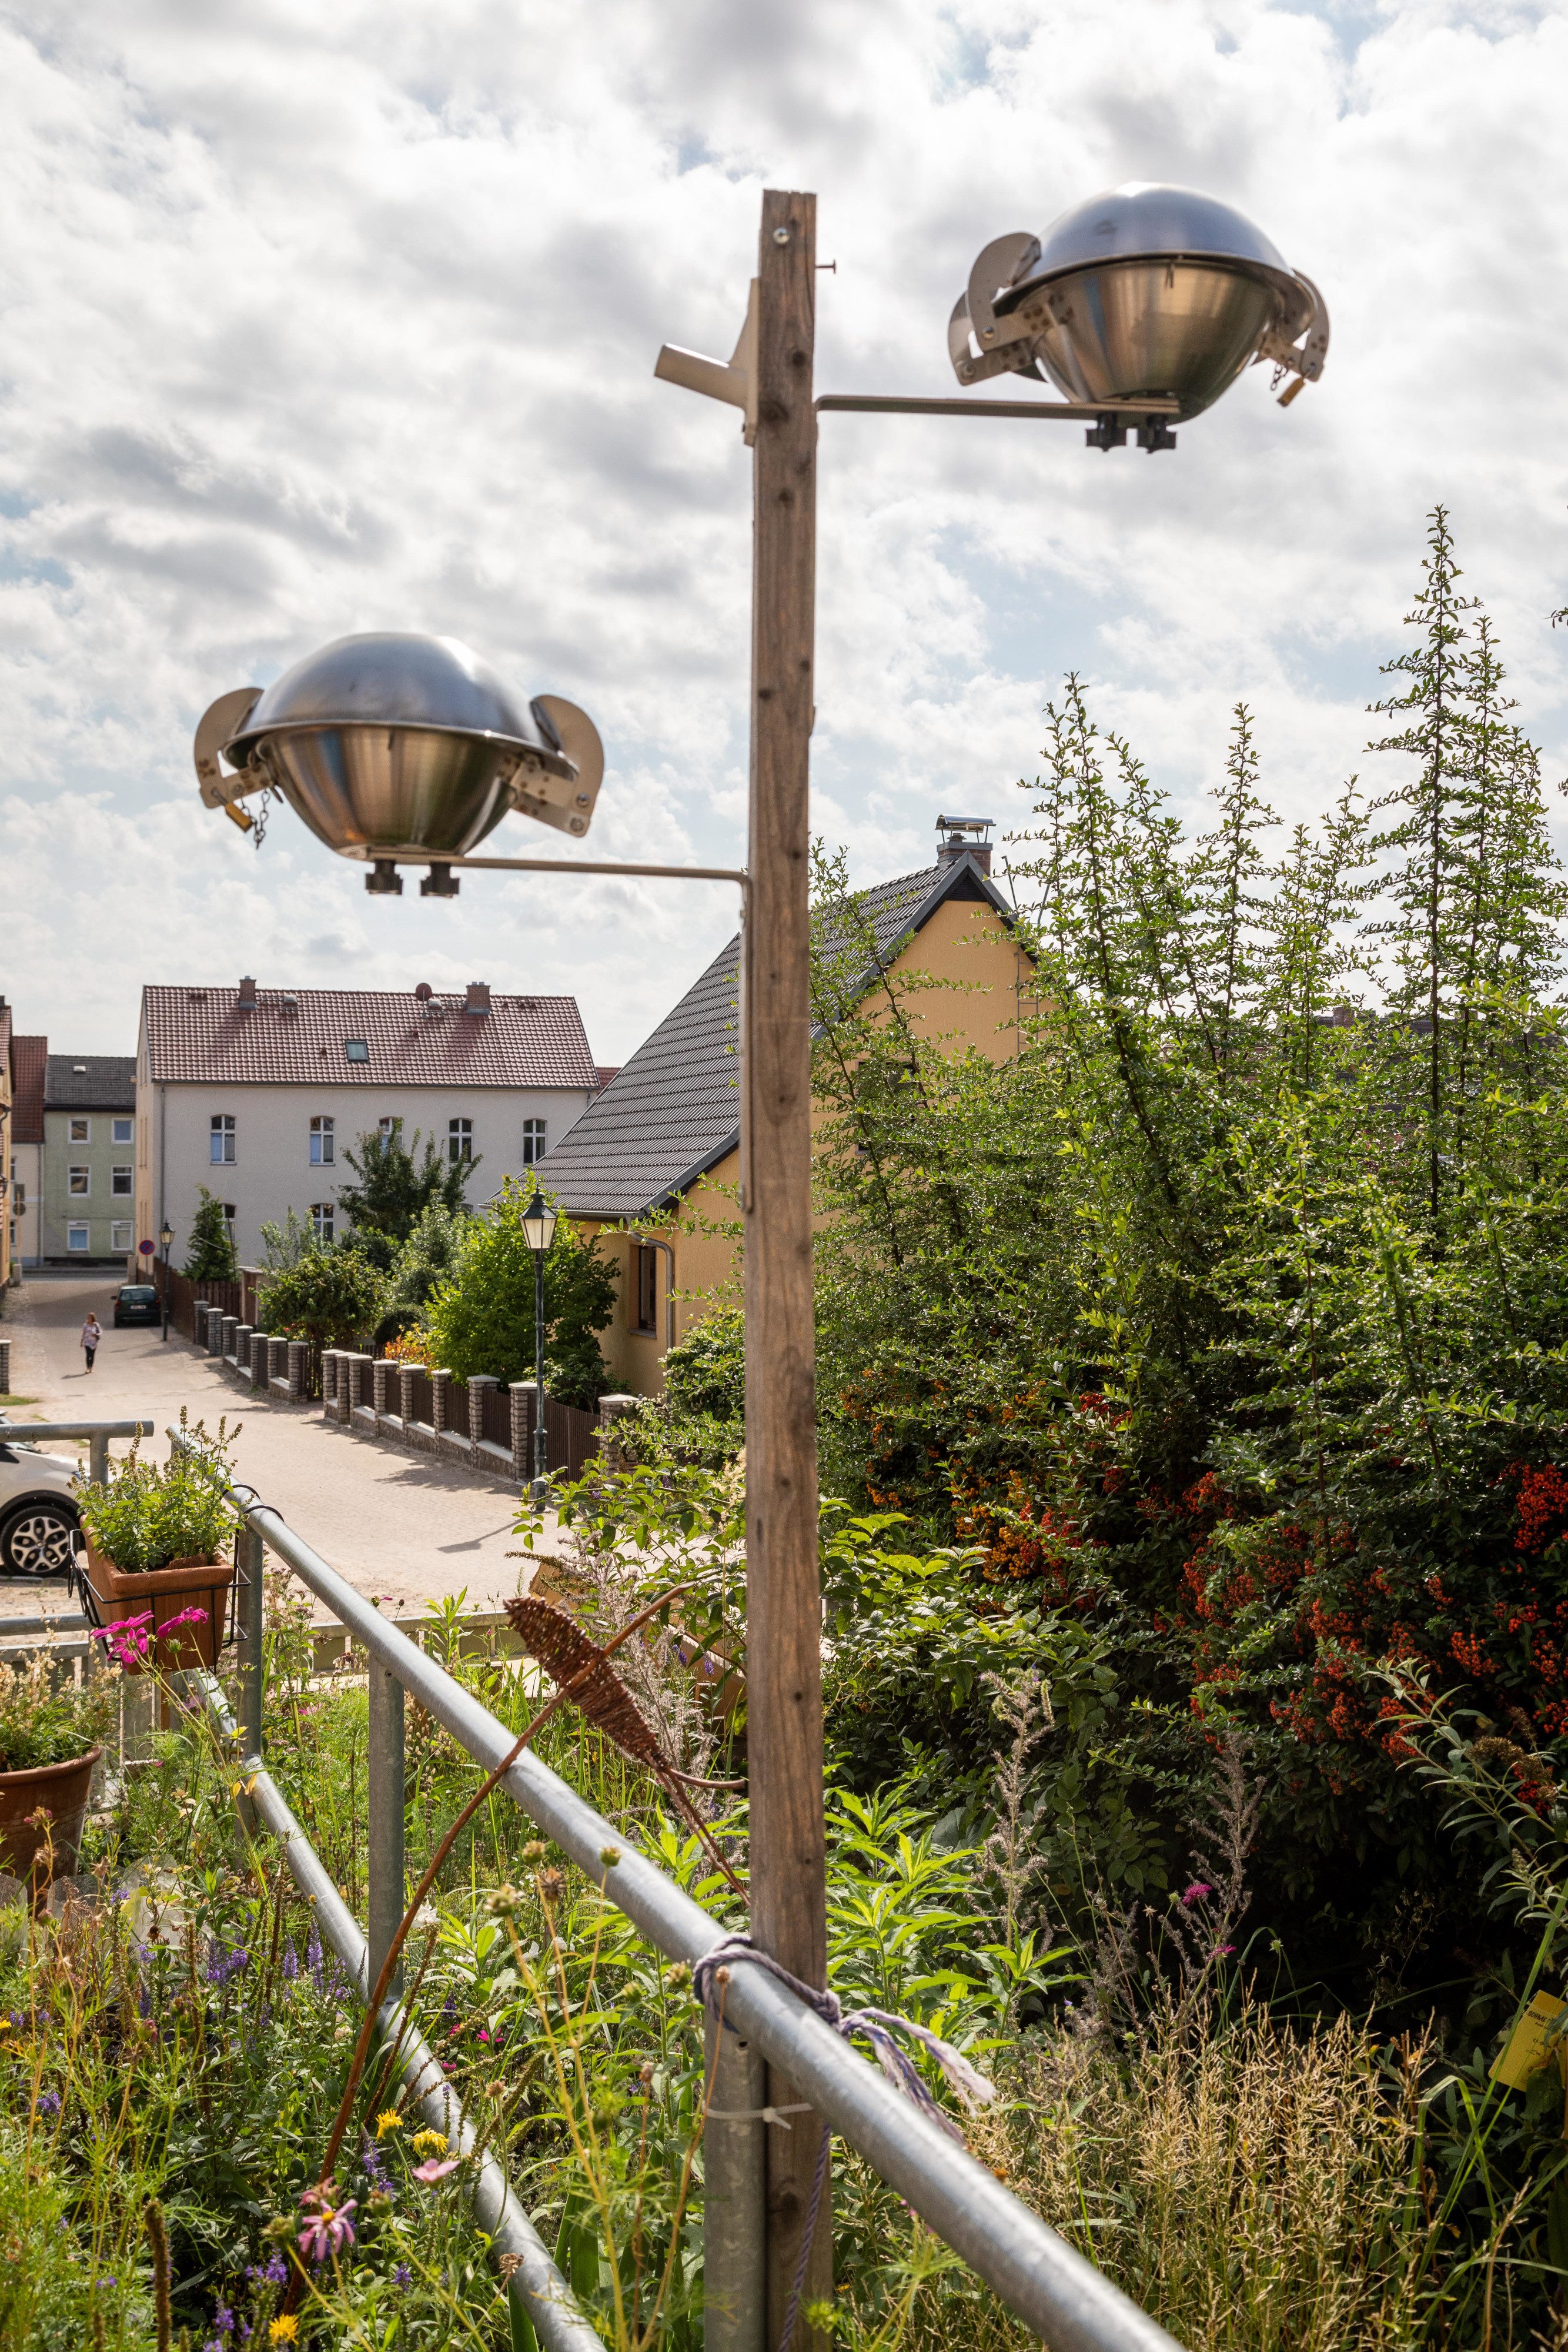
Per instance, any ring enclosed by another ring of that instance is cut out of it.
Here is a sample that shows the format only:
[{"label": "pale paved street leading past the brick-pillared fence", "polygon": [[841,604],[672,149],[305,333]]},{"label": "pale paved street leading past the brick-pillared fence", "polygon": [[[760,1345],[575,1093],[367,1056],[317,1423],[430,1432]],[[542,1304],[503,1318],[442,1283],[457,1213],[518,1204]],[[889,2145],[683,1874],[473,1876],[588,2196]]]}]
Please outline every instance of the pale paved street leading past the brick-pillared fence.
[{"label": "pale paved street leading past the brick-pillared fence", "polygon": [[[515,1503],[498,1486],[355,1437],[324,1421],[320,1406],[252,1397],[174,1331],[167,1345],[158,1331],[115,1331],[110,1294],[103,1275],[38,1279],[9,1294],[12,1388],[33,1399],[14,1409],[16,1421],[150,1416],[162,1430],[183,1404],[216,1430],[226,1416],[242,1423],[237,1475],[360,1592],[418,1604],[468,1588],[475,1609],[517,1592],[522,1562],[505,1557],[517,1550]],[[103,1324],[92,1376],[78,1345],[87,1308]],[[21,1613],[54,1592],[59,1585],[0,1581],[0,1613]]]}]

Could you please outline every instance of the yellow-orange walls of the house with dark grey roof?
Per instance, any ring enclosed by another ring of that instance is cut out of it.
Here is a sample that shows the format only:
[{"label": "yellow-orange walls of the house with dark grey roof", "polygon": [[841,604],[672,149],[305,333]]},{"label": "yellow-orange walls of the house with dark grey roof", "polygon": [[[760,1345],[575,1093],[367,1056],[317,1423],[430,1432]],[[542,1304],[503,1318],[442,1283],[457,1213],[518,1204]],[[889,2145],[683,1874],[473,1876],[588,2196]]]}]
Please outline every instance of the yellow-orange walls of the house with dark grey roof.
[{"label": "yellow-orange walls of the house with dark grey roof", "polygon": [[[891,964],[893,974],[919,971],[936,981],[905,997],[910,1025],[954,1054],[971,1047],[992,1061],[1018,1054],[1020,1018],[1034,1009],[1034,967],[1013,946],[1009,927],[992,906],[976,901],[940,906]],[[875,1000],[867,1011],[875,1014]],[[733,1235],[703,1230],[738,1218],[741,1155],[726,1152],[708,1176],[701,1176],[684,1202],[675,1228],[658,1237],[675,1251],[675,1336],[684,1338],[715,1301],[741,1303],[738,1247]],[[630,1284],[632,1235],[597,1218],[581,1218],[583,1232],[595,1232],[621,1279],[616,1317],[599,1334],[599,1348],[614,1385],[635,1397],[663,1390],[663,1355],[668,1331],[665,1284],[668,1258],[658,1265],[658,1331],[635,1331],[635,1291]]]}]

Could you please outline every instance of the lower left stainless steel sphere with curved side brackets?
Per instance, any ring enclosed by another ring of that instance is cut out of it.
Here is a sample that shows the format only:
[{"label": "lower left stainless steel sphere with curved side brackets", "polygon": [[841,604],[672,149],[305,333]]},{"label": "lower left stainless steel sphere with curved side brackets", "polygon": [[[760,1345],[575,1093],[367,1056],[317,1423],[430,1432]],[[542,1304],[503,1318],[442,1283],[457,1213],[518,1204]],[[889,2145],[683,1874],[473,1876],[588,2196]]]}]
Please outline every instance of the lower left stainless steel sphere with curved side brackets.
[{"label": "lower left stainless steel sphere with curved side brackets", "polygon": [[223,696],[195,764],[209,804],[277,786],[343,856],[456,858],[512,807],[585,833],[604,755],[571,703],[524,703],[456,637],[388,630],[339,637],[266,691]]}]

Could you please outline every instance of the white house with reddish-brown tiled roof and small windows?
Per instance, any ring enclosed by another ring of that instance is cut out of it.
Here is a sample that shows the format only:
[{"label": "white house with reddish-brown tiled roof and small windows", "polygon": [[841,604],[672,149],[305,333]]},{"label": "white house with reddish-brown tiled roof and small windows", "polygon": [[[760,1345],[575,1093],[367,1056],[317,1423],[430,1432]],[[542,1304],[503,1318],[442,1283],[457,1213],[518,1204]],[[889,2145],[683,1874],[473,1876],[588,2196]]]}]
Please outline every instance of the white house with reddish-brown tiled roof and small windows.
[{"label": "white house with reddish-brown tiled roof and small windows", "polygon": [[[473,981],[428,985],[143,988],[136,1040],[136,1235],[190,1242],[200,1188],[228,1214],[242,1263],[289,1209],[341,1240],[339,1188],[362,1134],[418,1131],[444,1160],[477,1162],[468,1200],[491,1200],[567,1134],[597,1091],[576,997],[505,997]],[[136,1263],[132,1249],[132,1263]]]}]

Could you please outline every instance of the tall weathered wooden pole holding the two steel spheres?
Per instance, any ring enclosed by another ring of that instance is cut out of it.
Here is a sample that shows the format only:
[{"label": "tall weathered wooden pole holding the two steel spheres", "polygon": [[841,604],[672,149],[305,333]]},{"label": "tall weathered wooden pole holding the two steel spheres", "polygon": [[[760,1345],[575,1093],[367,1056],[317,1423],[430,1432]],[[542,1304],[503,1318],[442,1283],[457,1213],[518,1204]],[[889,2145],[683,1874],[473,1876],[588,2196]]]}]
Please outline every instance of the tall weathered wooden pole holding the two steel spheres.
[{"label": "tall weathered wooden pole holding the two steel spheres", "polygon": [[[816,198],[769,188],[757,261],[750,903],[741,964],[745,1609],[752,1933],[827,1978],[823,1621],[811,1296],[809,753],[816,619]],[[769,2074],[769,2103],[795,2091]],[[766,2133],[766,2340],[778,2345],[820,2147]],[[832,2293],[827,2197],[804,2298]],[[802,2319],[792,2352],[813,2345]]]}]

